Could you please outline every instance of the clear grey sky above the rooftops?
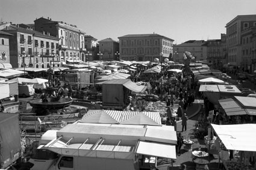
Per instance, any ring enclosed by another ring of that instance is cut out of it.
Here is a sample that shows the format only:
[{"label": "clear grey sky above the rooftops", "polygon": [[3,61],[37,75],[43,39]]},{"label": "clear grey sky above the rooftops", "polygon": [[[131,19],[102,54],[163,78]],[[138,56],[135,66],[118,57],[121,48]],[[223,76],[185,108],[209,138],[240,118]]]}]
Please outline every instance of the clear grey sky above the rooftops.
[{"label": "clear grey sky above the rooftops", "polygon": [[44,17],[76,25],[98,41],[127,34],[160,34],[181,44],[220,39],[226,23],[256,14],[255,0],[0,0],[2,22]]}]

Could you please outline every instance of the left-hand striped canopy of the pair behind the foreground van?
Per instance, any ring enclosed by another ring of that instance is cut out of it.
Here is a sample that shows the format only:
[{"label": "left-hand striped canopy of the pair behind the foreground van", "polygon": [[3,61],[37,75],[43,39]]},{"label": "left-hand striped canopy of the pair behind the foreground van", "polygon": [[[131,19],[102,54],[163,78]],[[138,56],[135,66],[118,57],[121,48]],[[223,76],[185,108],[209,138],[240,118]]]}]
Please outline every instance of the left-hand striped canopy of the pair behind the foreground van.
[{"label": "left-hand striped canopy of the pair behind the foreground van", "polygon": [[119,124],[122,114],[119,111],[89,110],[81,123]]}]

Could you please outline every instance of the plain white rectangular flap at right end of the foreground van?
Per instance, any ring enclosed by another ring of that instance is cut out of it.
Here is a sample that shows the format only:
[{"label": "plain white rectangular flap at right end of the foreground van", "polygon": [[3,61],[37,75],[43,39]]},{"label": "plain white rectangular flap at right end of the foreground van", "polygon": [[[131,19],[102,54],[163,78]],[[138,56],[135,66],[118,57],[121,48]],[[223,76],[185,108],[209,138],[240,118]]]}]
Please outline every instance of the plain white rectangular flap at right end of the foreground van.
[{"label": "plain white rectangular flap at right end of the foreground van", "polygon": [[136,153],[176,159],[175,145],[140,141]]}]

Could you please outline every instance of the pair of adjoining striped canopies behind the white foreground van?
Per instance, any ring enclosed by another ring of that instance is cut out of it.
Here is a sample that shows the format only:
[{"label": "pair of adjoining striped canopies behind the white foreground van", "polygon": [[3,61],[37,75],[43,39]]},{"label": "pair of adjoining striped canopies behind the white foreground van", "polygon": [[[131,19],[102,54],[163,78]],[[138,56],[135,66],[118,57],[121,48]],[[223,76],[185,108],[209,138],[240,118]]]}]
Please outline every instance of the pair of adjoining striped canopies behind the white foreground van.
[{"label": "pair of adjoining striped canopies behind the white foreground van", "polygon": [[161,126],[159,112],[89,110],[79,122]]}]

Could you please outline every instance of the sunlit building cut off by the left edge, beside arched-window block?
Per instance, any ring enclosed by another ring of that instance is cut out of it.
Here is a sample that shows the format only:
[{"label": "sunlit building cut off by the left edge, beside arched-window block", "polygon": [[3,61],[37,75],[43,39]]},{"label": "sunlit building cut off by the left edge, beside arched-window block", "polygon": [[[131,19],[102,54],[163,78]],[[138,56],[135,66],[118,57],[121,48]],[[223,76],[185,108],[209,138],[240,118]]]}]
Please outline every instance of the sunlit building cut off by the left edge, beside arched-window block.
[{"label": "sunlit building cut off by the left edge, beside arched-window block", "polygon": [[7,32],[0,31],[0,68],[12,68],[10,65],[9,38],[13,36]]}]

